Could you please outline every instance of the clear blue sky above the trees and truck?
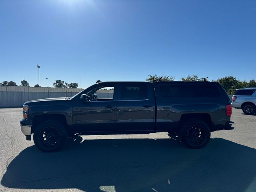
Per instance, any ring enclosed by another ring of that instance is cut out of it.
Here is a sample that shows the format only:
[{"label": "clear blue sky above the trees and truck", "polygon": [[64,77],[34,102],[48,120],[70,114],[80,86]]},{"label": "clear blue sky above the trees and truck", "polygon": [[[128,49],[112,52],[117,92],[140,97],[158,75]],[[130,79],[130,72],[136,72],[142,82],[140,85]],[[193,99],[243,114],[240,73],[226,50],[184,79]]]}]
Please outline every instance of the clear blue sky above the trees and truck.
[{"label": "clear blue sky above the trees and truck", "polygon": [[1,0],[0,82],[256,79],[255,0]]}]

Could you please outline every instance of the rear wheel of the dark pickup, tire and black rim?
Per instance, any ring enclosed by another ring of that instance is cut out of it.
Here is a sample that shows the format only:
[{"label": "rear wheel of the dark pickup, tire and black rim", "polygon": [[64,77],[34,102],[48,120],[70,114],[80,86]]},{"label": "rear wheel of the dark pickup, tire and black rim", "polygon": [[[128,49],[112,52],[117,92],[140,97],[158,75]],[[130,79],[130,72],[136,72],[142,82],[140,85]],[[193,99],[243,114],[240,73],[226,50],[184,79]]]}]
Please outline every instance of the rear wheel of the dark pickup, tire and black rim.
[{"label": "rear wheel of the dark pickup, tire and black rim", "polygon": [[208,144],[211,132],[209,126],[200,119],[190,119],[181,126],[180,136],[188,148],[202,148]]}]

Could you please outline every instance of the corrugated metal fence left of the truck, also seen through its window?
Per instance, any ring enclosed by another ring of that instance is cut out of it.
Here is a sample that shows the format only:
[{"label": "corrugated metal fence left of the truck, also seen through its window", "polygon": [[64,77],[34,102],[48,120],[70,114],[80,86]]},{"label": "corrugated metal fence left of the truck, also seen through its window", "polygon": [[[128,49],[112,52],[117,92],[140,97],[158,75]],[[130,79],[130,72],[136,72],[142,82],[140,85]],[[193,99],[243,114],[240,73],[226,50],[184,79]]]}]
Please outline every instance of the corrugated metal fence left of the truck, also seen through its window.
[{"label": "corrugated metal fence left of the truck, also seen through its window", "polygon": [[[24,102],[36,99],[72,97],[83,89],[0,86],[0,108],[21,107]],[[112,98],[113,90],[98,90],[98,98]]]}]

